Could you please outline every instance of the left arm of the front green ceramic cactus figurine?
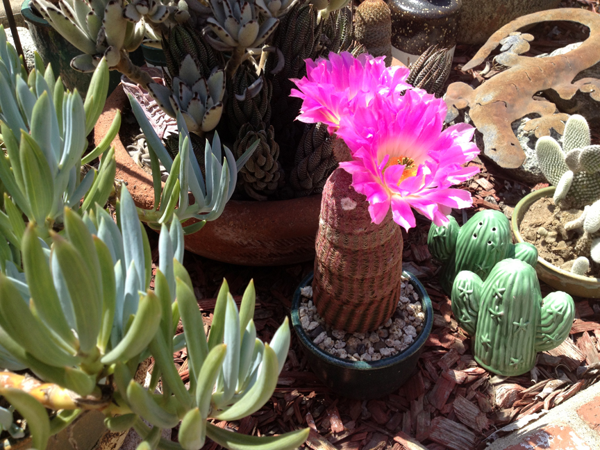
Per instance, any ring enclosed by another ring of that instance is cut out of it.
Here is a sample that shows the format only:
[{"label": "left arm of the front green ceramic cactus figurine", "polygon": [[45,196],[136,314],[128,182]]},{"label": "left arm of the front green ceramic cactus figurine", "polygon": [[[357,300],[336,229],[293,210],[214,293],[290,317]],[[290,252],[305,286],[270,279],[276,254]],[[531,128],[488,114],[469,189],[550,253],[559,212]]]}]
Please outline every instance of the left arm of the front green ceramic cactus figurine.
[{"label": "left arm of the front green ceramic cactus figurine", "polygon": [[470,335],[475,335],[477,328],[482,285],[481,278],[469,270],[458,272],[452,285],[452,313]]}]

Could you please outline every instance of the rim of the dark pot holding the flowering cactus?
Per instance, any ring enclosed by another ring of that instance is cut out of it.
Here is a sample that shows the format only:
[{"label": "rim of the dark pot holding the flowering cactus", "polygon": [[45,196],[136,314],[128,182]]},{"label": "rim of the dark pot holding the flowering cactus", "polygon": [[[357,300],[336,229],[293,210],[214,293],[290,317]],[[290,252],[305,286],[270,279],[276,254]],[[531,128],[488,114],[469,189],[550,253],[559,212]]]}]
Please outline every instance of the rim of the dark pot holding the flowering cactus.
[{"label": "rim of the dark pot holding the flowering cactus", "polygon": [[425,290],[422,283],[417,279],[417,277],[411,274],[410,272],[406,272],[406,270],[403,270],[402,275],[408,278],[408,282],[412,284],[413,288],[415,288],[415,290],[419,293],[419,296],[421,297],[420,301],[422,302],[422,305],[424,306],[424,310],[426,312],[424,327],[421,330],[421,333],[419,333],[419,335],[417,336],[417,339],[414,342],[412,342],[412,344],[410,344],[410,347],[408,347],[408,349],[401,351],[397,355],[388,358],[382,358],[378,361],[345,360],[342,358],[338,358],[337,356],[330,355],[329,353],[322,351],[322,349],[319,349],[319,347],[315,345],[313,340],[308,338],[308,336],[304,332],[304,328],[302,328],[302,325],[300,323],[299,315],[301,297],[300,289],[308,285],[308,283],[310,283],[310,281],[313,279],[313,272],[310,272],[310,274],[308,274],[308,276],[306,276],[306,278],[304,278],[301,281],[300,285],[296,288],[296,291],[294,292],[294,297],[292,299],[292,325],[294,326],[294,331],[296,331],[296,334],[303,346],[306,349],[308,349],[310,353],[313,353],[313,355],[317,356],[318,358],[327,360],[327,362],[331,365],[353,370],[384,369],[386,367],[391,367],[402,363],[404,360],[410,358],[412,355],[417,353],[417,351],[419,351],[421,347],[424,346],[426,340],[431,334],[431,329],[433,328],[433,306],[431,304],[429,294]]}]

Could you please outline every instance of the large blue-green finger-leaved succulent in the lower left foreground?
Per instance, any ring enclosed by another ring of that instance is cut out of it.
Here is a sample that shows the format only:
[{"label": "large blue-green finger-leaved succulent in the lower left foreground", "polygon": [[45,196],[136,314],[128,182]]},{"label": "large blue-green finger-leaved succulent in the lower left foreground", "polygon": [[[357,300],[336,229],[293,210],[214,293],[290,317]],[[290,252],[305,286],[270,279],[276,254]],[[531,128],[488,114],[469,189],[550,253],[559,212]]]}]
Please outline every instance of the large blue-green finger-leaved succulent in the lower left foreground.
[{"label": "large blue-green finger-leaved succulent in the lower left foreground", "polygon": [[[186,450],[200,449],[206,435],[229,448],[299,446],[306,430],[261,440],[223,433],[206,422],[209,417],[241,419],[271,397],[290,345],[287,319],[271,344],[263,344],[252,321],[252,283],[238,313],[224,282],[207,341],[182,265],[181,224],[163,225],[152,291],[150,247],[126,189],[117,216],[118,225],[100,206],[83,217],[65,208],[65,233],[53,234],[51,248],[30,225],[22,242],[24,272],[12,265],[0,274],[0,344],[41,380],[25,382],[22,375],[2,372],[0,394],[31,424],[36,448],[44,449],[49,436],[44,407],[78,410],[72,419],[81,410],[101,410],[109,429],[133,426],[147,444],[155,437],[158,443],[162,428],[183,420],[181,447],[174,448]],[[27,304],[30,298],[35,314]],[[180,314],[184,333],[173,338]],[[172,358],[183,345],[190,360],[189,390]],[[149,355],[156,365],[147,391],[131,374]],[[113,387],[103,381],[109,374]],[[150,393],[158,375],[163,381],[161,402]]]}]

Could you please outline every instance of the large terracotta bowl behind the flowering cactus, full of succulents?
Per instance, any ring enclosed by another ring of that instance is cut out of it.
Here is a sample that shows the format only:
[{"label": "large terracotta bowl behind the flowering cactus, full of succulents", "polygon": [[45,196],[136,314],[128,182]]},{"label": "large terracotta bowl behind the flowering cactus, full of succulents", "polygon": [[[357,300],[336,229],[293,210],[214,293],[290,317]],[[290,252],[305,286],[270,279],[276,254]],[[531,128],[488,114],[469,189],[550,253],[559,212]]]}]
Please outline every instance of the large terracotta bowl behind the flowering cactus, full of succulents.
[{"label": "large terracotta bowl behind the flowering cactus, full of succulents", "polygon": [[[110,94],[94,128],[100,142],[122,110],[127,97],[122,87]],[[127,183],[135,204],[152,208],[152,177],[129,156],[119,136],[113,141],[117,158],[115,178]],[[315,257],[321,195],[285,201],[235,201],[227,203],[219,219],[201,231],[185,236],[185,249],[224,263],[265,266],[295,264]]]}]

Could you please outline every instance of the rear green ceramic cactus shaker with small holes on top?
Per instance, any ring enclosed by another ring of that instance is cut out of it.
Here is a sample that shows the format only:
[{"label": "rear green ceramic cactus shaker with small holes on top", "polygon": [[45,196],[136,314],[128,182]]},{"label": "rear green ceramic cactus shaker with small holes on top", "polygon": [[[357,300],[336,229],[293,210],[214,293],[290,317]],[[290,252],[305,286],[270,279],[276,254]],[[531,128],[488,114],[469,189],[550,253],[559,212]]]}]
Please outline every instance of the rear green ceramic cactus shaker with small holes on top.
[{"label": "rear green ceramic cactus shaker with small holes on top", "polygon": [[494,265],[505,258],[517,258],[531,266],[537,263],[532,244],[512,244],[510,222],[499,211],[480,211],[462,227],[453,217],[449,219],[446,226],[431,224],[427,238],[433,257],[444,263],[440,284],[448,294],[461,270],[470,270],[485,280]]}]

